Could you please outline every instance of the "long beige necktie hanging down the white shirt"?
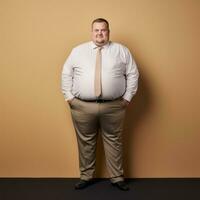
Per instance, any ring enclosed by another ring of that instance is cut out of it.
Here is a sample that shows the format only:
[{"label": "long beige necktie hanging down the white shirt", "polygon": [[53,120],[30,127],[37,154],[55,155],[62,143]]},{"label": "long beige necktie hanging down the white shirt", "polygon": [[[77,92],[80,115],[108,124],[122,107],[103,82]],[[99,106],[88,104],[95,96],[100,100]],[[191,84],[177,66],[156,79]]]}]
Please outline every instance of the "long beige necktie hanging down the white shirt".
[{"label": "long beige necktie hanging down the white shirt", "polygon": [[101,95],[101,49],[102,47],[98,47],[96,56],[95,83],[94,83],[96,97],[99,97]]}]

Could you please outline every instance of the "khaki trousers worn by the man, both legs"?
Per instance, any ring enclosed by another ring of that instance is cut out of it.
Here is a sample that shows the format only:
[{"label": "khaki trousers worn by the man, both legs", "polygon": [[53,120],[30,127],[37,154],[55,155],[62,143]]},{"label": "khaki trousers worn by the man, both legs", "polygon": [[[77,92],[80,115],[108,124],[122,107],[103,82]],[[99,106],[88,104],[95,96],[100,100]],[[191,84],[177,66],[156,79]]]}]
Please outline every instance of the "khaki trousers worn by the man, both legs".
[{"label": "khaki trousers worn by the man, both legs", "polygon": [[96,144],[100,130],[110,180],[113,183],[123,180],[124,101],[118,99],[96,103],[74,98],[70,102],[70,108],[77,135],[80,178],[90,180],[95,175]]}]

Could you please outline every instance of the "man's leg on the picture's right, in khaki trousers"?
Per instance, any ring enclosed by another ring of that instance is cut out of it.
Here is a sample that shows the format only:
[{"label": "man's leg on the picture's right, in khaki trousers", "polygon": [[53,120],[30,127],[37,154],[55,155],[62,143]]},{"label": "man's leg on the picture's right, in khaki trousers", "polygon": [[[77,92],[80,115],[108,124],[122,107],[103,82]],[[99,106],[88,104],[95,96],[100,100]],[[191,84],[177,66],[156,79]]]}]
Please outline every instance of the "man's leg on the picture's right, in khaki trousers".
[{"label": "man's leg on the picture's right, in khaki trousers", "polygon": [[122,149],[124,116],[125,106],[121,100],[101,104],[100,127],[112,183],[124,180]]}]

